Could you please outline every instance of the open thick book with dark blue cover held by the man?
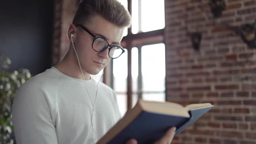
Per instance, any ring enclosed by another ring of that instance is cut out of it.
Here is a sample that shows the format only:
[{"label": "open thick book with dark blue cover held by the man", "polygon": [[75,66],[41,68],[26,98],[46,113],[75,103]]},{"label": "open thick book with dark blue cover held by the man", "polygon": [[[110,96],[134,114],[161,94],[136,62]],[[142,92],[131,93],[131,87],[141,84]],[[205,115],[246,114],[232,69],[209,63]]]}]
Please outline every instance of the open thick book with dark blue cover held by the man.
[{"label": "open thick book with dark blue cover held by the man", "polygon": [[97,144],[125,144],[131,138],[138,144],[154,143],[172,126],[176,126],[178,135],[212,107],[210,103],[183,107],[173,102],[139,100]]}]

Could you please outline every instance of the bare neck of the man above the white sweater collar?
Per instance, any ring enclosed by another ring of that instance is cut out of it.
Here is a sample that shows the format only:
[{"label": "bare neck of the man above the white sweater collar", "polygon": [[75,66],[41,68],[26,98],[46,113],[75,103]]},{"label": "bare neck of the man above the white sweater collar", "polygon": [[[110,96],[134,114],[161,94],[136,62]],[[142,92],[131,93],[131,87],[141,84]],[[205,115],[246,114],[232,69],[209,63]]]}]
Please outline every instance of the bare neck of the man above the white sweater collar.
[{"label": "bare neck of the man above the white sweater collar", "polygon": [[84,75],[83,77],[79,64],[70,51],[67,52],[65,57],[55,66],[55,68],[69,77],[74,77],[81,80],[90,80],[91,78],[90,74],[85,72],[82,68]]}]

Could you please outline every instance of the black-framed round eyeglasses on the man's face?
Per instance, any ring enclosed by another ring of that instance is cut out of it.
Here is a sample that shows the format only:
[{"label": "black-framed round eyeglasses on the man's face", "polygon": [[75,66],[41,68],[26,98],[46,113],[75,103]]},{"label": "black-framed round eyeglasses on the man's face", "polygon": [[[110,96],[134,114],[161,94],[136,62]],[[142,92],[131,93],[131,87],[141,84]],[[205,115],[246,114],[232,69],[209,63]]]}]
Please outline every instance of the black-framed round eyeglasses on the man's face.
[{"label": "black-framed round eyeglasses on the man's face", "polygon": [[94,51],[101,53],[109,48],[109,57],[111,59],[116,59],[125,52],[125,50],[120,45],[109,45],[107,40],[104,38],[93,35],[93,33],[86,29],[82,24],[76,24],[75,27],[81,27],[83,30],[85,30],[85,32],[88,32],[88,34],[93,37],[91,47]]}]

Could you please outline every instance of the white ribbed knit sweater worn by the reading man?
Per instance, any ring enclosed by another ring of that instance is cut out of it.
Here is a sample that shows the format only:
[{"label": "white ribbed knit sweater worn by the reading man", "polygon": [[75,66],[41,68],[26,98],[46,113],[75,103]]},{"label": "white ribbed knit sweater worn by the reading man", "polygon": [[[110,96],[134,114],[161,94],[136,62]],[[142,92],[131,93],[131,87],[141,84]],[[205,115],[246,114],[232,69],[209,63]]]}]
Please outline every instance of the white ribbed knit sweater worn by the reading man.
[{"label": "white ribbed knit sweater worn by the reading man", "polygon": [[[86,80],[92,101],[97,83]],[[115,92],[99,83],[93,112],[83,80],[52,67],[24,83],[13,101],[13,125],[18,144],[91,144],[119,119]],[[92,141],[92,138],[96,138]]]}]

